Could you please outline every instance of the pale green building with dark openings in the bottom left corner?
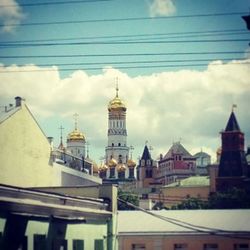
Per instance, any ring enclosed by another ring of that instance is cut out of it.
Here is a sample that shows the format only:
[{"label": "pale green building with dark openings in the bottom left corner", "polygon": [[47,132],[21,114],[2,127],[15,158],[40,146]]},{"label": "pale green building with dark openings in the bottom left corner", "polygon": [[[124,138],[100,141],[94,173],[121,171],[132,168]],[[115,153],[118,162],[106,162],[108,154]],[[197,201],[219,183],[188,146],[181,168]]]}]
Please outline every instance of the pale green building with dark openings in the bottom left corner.
[{"label": "pale green building with dark openings in the bottom left corner", "polygon": [[116,195],[112,186],[0,185],[0,249],[115,249]]}]

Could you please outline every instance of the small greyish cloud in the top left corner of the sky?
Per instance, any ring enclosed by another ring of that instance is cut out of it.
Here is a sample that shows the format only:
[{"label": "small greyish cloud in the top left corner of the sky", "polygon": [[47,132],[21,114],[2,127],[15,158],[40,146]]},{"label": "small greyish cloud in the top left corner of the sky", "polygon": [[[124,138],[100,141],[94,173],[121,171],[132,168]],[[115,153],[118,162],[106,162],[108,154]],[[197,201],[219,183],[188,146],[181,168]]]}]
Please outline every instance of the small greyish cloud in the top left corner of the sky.
[{"label": "small greyish cloud in the top left corner of the sky", "polygon": [[[15,0],[1,0],[0,23],[3,24],[2,32],[12,32],[24,18],[21,7]],[[15,26],[12,26],[16,24]]]}]

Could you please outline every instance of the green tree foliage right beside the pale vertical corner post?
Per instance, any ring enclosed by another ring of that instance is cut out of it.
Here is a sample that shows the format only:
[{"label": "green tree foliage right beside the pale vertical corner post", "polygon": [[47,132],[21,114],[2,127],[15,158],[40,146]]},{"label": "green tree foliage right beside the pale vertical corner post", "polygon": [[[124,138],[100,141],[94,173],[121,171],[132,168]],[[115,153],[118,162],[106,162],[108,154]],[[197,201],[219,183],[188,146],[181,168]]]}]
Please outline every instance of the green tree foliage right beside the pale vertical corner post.
[{"label": "green tree foliage right beside the pale vertical corner post", "polygon": [[[123,201],[132,203],[135,206],[139,206],[139,197],[138,197],[138,195],[136,195],[132,192],[123,191],[119,188],[118,189],[118,198],[123,200]],[[135,208],[118,200],[118,210],[135,210]]]}]

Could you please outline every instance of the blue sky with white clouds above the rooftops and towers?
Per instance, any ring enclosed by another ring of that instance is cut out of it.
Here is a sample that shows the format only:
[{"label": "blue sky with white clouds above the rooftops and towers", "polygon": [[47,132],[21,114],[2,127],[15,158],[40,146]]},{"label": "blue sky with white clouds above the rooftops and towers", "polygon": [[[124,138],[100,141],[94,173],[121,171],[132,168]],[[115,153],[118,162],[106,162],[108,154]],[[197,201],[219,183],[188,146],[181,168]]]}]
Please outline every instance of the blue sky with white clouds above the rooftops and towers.
[{"label": "blue sky with white clouds above the rooftops and towers", "polygon": [[250,145],[249,0],[0,0],[0,107],[25,98],[47,136],[78,127],[96,162],[108,102],[127,105],[133,158],[181,141],[212,155],[232,110]]}]

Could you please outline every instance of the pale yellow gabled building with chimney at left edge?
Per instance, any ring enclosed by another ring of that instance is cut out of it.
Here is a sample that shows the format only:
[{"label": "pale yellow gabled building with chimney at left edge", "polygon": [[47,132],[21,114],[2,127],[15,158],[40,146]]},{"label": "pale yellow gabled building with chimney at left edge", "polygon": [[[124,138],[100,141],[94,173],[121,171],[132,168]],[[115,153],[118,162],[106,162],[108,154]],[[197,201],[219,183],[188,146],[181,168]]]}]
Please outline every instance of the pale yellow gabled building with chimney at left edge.
[{"label": "pale yellow gabled building with chimney at left edge", "polygon": [[52,145],[21,97],[0,114],[0,183],[19,187],[101,184],[53,162]]}]

